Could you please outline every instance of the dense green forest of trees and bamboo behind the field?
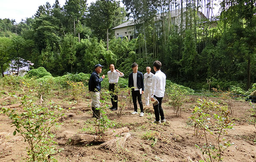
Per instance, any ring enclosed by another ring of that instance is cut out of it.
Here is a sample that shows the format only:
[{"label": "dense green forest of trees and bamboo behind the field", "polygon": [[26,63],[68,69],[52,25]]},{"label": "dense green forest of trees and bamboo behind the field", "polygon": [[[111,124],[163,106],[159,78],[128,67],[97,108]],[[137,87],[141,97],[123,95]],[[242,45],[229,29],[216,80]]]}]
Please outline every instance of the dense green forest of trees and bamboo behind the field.
[{"label": "dense green forest of trees and bamboo behind the field", "polygon": [[[91,73],[94,64],[114,63],[127,76],[134,61],[145,72],[158,59],[170,80],[192,88],[207,81],[244,89],[255,83],[255,0],[122,3],[67,0],[61,7],[56,0],[20,23],[0,19],[1,71],[23,58],[53,75]],[[134,21],[137,38],[116,39],[112,28],[127,20]]]}]

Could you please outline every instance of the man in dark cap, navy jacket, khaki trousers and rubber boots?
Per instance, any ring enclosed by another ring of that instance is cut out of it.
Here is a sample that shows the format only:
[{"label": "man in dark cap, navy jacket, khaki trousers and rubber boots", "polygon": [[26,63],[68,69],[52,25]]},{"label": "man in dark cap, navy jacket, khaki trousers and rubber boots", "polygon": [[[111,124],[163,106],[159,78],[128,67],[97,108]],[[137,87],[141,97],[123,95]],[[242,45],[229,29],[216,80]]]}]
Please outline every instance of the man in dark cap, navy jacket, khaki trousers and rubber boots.
[{"label": "man in dark cap, navy jacket, khaki trousers and rubber boots", "polygon": [[99,118],[100,117],[100,111],[99,106],[99,92],[101,90],[101,82],[105,78],[105,75],[102,75],[102,77],[99,77],[99,73],[102,73],[102,65],[96,64],[94,66],[94,71],[90,75],[90,80],[88,83],[89,92],[92,97],[92,110],[93,110],[93,117]]}]

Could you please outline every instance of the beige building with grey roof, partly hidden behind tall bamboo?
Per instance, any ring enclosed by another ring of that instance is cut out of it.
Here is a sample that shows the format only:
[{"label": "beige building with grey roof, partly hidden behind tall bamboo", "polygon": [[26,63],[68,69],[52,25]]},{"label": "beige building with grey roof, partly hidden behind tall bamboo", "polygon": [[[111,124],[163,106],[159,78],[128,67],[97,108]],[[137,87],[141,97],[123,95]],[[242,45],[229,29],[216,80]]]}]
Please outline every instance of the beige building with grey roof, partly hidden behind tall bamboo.
[{"label": "beige building with grey roof, partly hidden behind tall bamboo", "polygon": [[[186,8],[183,8],[183,26],[185,25],[185,15],[186,15]],[[199,20],[202,19],[207,19],[207,17],[204,16],[204,14],[201,11],[198,11],[197,13]],[[161,20],[161,17],[166,17],[166,19],[168,18],[168,13],[165,12],[163,14],[157,14],[156,16],[156,21],[157,20]],[[172,25],[180,25],[181,22],[181,9],[177,9],[177,10],[172,10],[170,12],[170,23]],[[162,24],[161,22],[159,23],[160,25]],[[134,28],[135,27],[135,28]],[[137,38],[137,36],[139,35],[138,30],[136,29],[136,25],[134,23],[134,20],[129,20],[125,23],[122,23],[118,26],[116,26],[115,28],[112,28],[112,30],[114,30],[115,33],[115,37],[116,38],[124,38],[125,36],[131,40],[134,37]],[[135,32],[135,34],[134,34]]]}]

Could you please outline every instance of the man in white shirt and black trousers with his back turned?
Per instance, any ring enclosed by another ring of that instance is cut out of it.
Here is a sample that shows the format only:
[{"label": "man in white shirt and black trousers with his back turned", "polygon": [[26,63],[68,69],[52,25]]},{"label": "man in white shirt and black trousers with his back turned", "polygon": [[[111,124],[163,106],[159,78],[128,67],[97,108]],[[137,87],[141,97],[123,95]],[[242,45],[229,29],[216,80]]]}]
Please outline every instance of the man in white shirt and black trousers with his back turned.
[{"label": "man in white shirt and black trousers with his back turned", "polygon": [[[166,85],[166,75],[160,70],[162,63],[160,61],[154,61],[153,68],[156,72],[152,78],[152,93],[151,93],[151,101],[154,101],[154,98],[157,99],[159,104],[153,106],[154,107],[154,114],[155,114],[155,121],[153,123],[159,124],[166,122],[163,108],[162,108],[162,100],[165,92],[165,85]],[[160,117],[161,116],[161,120]]]}]

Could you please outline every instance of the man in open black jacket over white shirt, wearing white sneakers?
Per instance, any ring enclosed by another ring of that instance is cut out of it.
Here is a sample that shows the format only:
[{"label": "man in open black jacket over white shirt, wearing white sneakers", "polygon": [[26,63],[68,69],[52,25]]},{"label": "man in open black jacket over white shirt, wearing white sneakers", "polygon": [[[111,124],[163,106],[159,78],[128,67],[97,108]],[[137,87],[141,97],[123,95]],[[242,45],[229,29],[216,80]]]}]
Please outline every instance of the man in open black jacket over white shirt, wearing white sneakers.
[{"label": "man in open black jacket over white shirt, wearing white sneakers", "polygon": [[[134,112],[131,114],[138,114],[138,108],[137,108],[137,99],[140,105],[140,117],[143,117],[144,111],[143,111],[143,103],[142,103],[142,94],[144,92],[144,82],[143,82],[143,73],[138,71],[138,64],[134,62],[131,65],[131,68],[133,70],[132,73],[129,74],[128,79],[128,87],[131,89],[131,95],[132,95],[132,101],[134,103]],[[130,92],[129,92],[130,95]]]}]

